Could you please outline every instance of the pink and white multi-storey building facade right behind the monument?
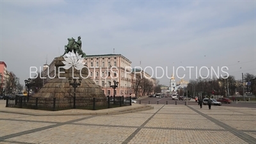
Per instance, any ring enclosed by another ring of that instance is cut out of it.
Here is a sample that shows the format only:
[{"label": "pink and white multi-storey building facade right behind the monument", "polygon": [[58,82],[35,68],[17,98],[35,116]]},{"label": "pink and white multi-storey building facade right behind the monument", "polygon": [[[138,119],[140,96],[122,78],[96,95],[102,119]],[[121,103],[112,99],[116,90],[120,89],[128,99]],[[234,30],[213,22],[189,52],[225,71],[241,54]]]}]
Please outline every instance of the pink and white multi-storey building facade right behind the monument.
[{"label": "pink and white multi-storey building facade right behind the monument", "polygon": [[[122,54],[87,55],[83,63],[89,69],[89,77],[101,86],[106,96],[113,96],[113,81],[118,81],[115,95],[129,96],[132,93],[131,61]],[[109,84],[111,83],[111,84]]]}]

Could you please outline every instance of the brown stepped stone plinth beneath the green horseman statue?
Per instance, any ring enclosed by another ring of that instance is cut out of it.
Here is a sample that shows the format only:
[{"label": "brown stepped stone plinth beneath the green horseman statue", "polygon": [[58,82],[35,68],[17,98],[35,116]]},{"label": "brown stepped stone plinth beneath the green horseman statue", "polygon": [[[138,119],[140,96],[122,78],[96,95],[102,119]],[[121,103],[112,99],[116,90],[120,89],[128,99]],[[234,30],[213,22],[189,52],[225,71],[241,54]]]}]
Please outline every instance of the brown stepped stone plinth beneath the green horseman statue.
[{"label": "brown stepped stone plinth beneath the green horseman statue", "polygon": [[[56,58],[54,63],[56,67],[56,76],[53,79],[50,79],[44,86],[39,90],[38,93],[35,93],[31,100],[28,101],[28,105],[35,105],[35,99],[33,98],[40,98],[40,102],[38,104],[49,104],[52,106],[51,100],[46,100],[46,98],[56,98],[56,99],[63,99],[60,104],[70,106],[72,102],[67,102],[65,98],[72,98],[74,97],[74,88],[70,86],[68,78],[73,77],[87,77],[88,76],[88,69],[83,68],[82,70],[76,70],[74,67],[70,67],[69,69],[62,68],[64,66],[63,62],[65,61],[63,56]],[[59,72],[60,69],[60,72]],[[58,76],[59,75],[59,76]],[[60,77],[60,78],[59,78]],[[102,89],[99,85],[95,84],[89,78],[82,78],[80,86],[76,88],[76,102],[77,104],[85,104],[85,98],[96,98],[96,99],[106,99],[106,95],[102,92]],[[81,101],[79,101],[81,98]],[[83,99],[83,101],[82,101]]]}]

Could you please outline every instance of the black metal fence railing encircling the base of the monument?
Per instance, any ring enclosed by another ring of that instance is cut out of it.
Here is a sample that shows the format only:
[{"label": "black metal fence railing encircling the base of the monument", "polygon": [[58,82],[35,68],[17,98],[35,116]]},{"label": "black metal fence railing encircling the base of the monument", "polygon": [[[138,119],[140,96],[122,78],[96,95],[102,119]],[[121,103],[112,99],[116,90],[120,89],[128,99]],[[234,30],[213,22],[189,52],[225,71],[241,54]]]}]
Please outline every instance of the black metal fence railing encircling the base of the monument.
[{"label": "black metal fence railing encircling the base of the monument", "polygon": [[68,98],[43,98],[43,97],[19,97],[6,99],[6,107],[42,109],[58,111],[63,109],[107,109],[122,106],[131,106],[132,99],[124,97],[68,97]]}]

